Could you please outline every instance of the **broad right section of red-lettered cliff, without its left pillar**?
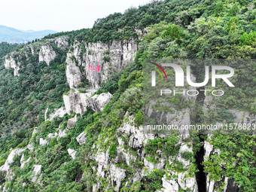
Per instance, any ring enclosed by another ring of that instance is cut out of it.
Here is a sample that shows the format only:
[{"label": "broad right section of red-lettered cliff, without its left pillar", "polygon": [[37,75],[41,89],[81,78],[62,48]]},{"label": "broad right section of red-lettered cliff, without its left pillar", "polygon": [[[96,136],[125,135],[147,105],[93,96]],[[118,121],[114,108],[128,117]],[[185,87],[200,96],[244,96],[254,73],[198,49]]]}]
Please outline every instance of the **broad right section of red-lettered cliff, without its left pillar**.
[{"label": "broad right section of red-lettered cliff, without its left pillar", "polygon": [[[113,70],[120,70],[133,61],[138,47],[135,41],[113,41],[111,44],[101,42],[88,44],[86,49],[87,54],[84,56],[85,62],[82,66],[90,84],[93,87],[100,87]],[[100,66],[101,72],[91,71],[89,66],[95,69]]]}]

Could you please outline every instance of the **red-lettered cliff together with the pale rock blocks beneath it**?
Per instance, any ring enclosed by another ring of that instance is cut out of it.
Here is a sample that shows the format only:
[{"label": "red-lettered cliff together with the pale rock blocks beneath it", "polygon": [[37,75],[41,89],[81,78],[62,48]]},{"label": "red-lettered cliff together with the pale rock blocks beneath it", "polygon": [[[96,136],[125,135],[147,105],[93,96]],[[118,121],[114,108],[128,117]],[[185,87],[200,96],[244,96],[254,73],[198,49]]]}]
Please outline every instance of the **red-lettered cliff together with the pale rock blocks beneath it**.
[{"label": "red-lettered cliff together with the pale rock blocks beneath it", "polygon": [[[66,57],[66,78],[73,90],[63,96],[66,111],[83,114],[87,106],[93,111],[101,111],[106,104],[102,104],[103,100],[108,102],[111,97],[89,99],[90,96],[108,79],[108,75],[132,62],[137,49],[135,41],[113,41],[111,44],[75,41]],[[90,89],[87,93],[79,93],[77,87],[85,79],[89,81]]]}]

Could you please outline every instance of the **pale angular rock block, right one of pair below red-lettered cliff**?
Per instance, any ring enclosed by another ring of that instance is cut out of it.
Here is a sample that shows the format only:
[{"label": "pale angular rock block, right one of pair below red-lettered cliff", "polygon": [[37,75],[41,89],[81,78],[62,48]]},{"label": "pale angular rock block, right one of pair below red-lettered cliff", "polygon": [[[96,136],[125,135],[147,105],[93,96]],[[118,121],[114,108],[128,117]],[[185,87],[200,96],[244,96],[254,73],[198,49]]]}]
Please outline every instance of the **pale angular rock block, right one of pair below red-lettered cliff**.
[{"label": "pale angular rock block, right one of pair below red-lettered cliff", "polygon": [[103,110],[105,105],[107,105],[111,98],[111,93],[101,93],[100,95],[92,96],[86,102],[91,111],[100,112]]}]

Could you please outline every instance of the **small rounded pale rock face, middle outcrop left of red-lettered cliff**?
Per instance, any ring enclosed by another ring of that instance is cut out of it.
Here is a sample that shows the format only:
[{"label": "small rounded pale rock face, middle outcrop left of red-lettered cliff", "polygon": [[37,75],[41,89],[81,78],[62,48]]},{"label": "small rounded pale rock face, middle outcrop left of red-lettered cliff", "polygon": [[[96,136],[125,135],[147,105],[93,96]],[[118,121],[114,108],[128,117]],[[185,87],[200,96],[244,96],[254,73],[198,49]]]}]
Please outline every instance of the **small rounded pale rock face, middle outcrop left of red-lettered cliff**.
[{"label": "small rounded pale rock face, middle outcrop left of red-lettered cliff", "polygon": [[56,56],[55,51],[53,50],[53,47],[50,46],[50,44],[45,44],[40,47],[39,50],[39,62],[44,61],[46,62],[47,66],[49,66],[50,61],[54,59]]}]

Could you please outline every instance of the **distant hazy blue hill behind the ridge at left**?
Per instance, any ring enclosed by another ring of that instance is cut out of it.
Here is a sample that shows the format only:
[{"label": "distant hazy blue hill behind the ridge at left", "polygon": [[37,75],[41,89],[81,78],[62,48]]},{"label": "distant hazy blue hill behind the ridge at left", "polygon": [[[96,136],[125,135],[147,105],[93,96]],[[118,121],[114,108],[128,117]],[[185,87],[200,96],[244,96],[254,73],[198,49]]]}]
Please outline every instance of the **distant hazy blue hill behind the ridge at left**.
[{"label": "distant hazy blue hill behind the ridge at left", "polygon": [[35,40],[35,38],[43,38],[45,35],[56,33],[52,30],[44,31],[21,31],[8,26],[0,26],[0,42],[6,41],[8,43],[26,43]]}]

